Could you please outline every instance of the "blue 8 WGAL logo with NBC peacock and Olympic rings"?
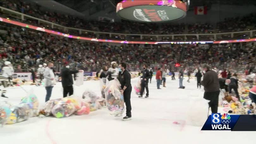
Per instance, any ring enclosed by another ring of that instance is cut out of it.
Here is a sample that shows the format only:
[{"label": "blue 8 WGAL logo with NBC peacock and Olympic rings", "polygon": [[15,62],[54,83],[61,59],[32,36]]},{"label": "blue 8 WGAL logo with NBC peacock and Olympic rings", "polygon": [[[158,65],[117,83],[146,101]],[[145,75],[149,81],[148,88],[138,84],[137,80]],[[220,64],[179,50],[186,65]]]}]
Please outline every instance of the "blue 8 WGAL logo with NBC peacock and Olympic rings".
[{"label": "blue 8 WGAL logo with NBC peacock and Olympic rings", "polygon": [[221,115],[220,113],[213,113],[211,114],[211,127],[213,130],[218,130],[218,129],[230,129],[229,128],[229,123],[231,122],[230,120],[230,115],[225,113]]}]

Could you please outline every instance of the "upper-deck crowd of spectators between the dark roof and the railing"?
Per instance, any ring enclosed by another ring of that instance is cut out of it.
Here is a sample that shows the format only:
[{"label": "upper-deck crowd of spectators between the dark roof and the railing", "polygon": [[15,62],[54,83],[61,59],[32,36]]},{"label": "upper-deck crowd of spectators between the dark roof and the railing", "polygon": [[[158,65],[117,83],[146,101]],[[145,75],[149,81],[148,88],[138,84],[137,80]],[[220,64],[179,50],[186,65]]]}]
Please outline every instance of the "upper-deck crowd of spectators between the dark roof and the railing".
[{"label": "upper-deck crowd of spectators between the dark roof and the railing", "polygon": [[[40,6],[25,1],[0,1],[2,7],[31,15],[46,21],[51,21],[66,27],[111,33],[131,34],[184,34],[184,33],[223,33],[244,31],[256,27],[256,16],[251,14],[245,17],[228,18],[215,24],[170,24],[170,23],[136,23],[122,20],[121,22],[86,21],[71,15],[57,12],[41,11]],[[78,32],[76,32],[78,33]],[[92,36],[93,34],[87,34]],[[92,36],[93,37],[93,36]],[[107,38],[107,37],[106,37]]]}]

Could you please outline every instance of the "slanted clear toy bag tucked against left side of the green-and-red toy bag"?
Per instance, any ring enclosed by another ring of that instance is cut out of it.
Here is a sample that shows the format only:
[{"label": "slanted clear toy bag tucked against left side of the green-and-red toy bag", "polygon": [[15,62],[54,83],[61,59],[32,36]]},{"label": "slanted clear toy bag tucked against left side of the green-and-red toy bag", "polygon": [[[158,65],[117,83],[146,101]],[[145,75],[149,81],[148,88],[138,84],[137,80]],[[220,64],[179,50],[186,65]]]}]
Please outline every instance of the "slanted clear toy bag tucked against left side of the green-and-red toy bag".
[{"label": "slanted clear toy bag tucked against left side of the green-and-red toy bag", "polygon": [[48,101],[45,103],[43,109],[41,109],[41,110],[39,111],[39,115],[44,115],[44,116],[46,116],[46,117],[52,115],[52,108],[53,108],[56,104],[58,104],[58,102],[59,102],[60,100],[61,100],[61,99],[52,99],[52,100],[48,100]]}]

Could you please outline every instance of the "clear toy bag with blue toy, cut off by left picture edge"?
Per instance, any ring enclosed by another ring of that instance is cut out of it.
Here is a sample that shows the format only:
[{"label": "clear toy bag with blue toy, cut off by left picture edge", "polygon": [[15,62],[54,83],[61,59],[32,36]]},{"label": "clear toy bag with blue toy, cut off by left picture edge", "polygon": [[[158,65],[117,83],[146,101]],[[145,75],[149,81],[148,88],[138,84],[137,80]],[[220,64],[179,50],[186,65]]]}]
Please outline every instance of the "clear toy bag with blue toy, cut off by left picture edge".
[{"label": "clear toy bag with blue toy, cut off by left picture edge", "polygon": [[7,123],[11,114],[11,105],[7,101],[0,101],[0,127]]}]

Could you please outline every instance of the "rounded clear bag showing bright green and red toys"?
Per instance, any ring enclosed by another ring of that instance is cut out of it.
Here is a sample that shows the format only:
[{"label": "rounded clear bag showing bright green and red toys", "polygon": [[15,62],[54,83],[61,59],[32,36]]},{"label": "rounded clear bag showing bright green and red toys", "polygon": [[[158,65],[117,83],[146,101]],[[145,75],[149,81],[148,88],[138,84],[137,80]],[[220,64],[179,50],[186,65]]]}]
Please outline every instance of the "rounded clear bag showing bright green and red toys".
[{"label": "rounded clear bag showing bright green and red toys", "polygon": [[52,108],[52,114],[57,118],[69,117],[75,111],[80,109],[76,99],[65,97]]}]

